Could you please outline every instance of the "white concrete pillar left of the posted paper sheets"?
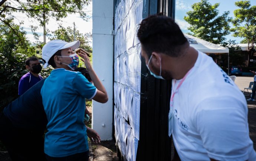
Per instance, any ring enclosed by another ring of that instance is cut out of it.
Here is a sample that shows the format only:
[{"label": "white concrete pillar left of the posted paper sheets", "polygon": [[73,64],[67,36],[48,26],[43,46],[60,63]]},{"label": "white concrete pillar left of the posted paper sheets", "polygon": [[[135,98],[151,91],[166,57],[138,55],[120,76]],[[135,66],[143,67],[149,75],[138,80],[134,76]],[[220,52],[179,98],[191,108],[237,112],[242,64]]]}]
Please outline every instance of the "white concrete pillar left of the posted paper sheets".
[{"label": "white concrete pillar left of the posted paper sheets", "polygon": [[112,139],[113,115],[113,0],[92,1],[93,69],[108,92],[108,102],[92,101],[92,128],[101,140]]}]

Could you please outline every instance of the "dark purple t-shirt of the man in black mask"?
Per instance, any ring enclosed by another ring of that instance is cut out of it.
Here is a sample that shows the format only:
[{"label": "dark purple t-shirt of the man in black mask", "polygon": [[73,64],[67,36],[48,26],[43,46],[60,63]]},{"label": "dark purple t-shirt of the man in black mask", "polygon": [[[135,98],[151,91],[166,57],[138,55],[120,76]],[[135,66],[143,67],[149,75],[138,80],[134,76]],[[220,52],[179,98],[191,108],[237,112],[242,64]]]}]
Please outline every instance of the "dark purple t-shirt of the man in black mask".
[{"label": "dark purple t-shirt of the man in black mask", "polygon": [[18,95],[22,95],[25,93],[29,88],[31,88],[33,85],[35,85],[37,82],[42,80],[42,76],[38,75],[39,77],[35,77],[33,74],[30,74],[30,72],[26,73],[25,75],[20,78],[19,81],[19,92]]}]

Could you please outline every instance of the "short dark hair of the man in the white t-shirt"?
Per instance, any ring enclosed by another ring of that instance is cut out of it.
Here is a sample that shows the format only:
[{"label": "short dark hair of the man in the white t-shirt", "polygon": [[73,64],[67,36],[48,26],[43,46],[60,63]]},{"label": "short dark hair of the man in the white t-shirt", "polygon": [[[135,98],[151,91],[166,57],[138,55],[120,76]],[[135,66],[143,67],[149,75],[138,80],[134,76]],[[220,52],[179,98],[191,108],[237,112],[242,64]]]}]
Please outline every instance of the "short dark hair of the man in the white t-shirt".
[{"label": "short dark hair of the man in the white t-shirt", "polygon": [[188,40],[178,24],[172,18],[161,14],[142,20],[137,36],[148,56],[152,52],[160,52],[178,57],[184,45],[188,45]]}]

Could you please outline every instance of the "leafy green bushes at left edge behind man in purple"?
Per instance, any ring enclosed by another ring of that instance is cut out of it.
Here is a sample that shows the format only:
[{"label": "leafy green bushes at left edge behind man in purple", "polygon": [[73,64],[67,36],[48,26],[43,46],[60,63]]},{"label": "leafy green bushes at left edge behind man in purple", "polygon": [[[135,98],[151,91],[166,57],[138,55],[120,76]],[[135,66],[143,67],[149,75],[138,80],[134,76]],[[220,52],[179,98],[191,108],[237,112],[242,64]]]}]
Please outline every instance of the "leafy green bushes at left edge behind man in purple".
[{"label": "leafy green bushes at left edge behind man in purple", "polygon": [[[36,55],[42,45],[32,45],[26,40],[26,32],[19,25],[10,22],[12,28],[0,23],[0,112],[18,97],[20,78],[28,71],[25,60]],[[13,29],[19,30],[16,35]],[[19,39],[20,37],[20,39]],[[46,77],[52,68],[43,69],[40,75]]]}]

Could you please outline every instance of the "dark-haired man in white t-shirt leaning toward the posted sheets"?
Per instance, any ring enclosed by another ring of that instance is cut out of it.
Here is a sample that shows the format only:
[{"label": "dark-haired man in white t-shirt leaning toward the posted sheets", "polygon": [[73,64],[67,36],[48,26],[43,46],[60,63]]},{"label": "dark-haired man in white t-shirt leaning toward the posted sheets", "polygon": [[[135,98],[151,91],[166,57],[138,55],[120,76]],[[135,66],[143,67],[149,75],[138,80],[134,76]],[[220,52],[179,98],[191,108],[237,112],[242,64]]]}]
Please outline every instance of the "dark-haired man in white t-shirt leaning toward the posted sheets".
[{"label": "dark-haired man in white t-shirt leaning toward the posted sheets", "polygon": [[183,161],[255,161],[242,92],[178,25],[153,15],[140,24],[141,56],[155,78],[172,81],[169,136]]}]

